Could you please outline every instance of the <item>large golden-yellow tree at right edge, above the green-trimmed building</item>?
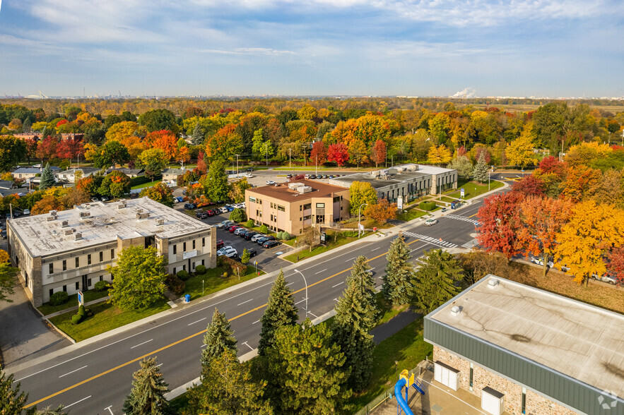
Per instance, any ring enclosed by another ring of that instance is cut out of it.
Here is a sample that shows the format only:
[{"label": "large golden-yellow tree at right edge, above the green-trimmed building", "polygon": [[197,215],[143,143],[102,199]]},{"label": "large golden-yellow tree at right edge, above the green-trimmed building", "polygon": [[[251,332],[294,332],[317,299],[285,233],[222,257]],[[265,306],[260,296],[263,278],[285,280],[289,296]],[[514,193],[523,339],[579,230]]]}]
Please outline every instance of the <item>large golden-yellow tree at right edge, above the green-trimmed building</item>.
[{"label": "large golden-yellow tree at right edge, above the green-trimmed building", "polygon": [[624,244],[624,210],[594,200],[579,203],[556,239],[555,258],[570,267],[575,282],[587,285],[591,275],[606,271],[607,251]]}]

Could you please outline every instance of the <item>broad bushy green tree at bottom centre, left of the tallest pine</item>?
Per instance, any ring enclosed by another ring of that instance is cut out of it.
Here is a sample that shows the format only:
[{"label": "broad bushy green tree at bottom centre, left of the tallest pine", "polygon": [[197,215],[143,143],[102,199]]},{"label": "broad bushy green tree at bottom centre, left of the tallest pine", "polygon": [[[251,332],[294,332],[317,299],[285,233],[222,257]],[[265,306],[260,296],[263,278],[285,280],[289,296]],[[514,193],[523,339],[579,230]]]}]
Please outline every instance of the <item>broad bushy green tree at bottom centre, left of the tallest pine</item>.
[{"label": "broad bushy green tree at bottom centre, left of the tallest pine", "polygon": [[324,323],[312,325],[306,318],[302,325],[280,327],[266,360],[271,402],[279,414],[340,412],[351,396],[346,358]]}]

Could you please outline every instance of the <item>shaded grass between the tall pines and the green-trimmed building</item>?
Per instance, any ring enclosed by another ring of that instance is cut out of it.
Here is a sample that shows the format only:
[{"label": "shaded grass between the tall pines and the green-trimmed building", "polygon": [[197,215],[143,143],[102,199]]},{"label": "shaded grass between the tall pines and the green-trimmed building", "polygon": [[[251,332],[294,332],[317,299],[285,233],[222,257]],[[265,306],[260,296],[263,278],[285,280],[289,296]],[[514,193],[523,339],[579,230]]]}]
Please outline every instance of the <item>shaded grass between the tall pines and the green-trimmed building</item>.
[{"label": "shaded grass between the tall pines and the green-trimmed building", "polygon": [[[350,413],[358,411],[380,393],[392,387],[404,369],[413,369],[430,356],[433,346],[423,339],[423,319],[419,318],[375,347],[372,377],[363,392],[348,399]],[[394,362],[398,363],[394,363]]]}]

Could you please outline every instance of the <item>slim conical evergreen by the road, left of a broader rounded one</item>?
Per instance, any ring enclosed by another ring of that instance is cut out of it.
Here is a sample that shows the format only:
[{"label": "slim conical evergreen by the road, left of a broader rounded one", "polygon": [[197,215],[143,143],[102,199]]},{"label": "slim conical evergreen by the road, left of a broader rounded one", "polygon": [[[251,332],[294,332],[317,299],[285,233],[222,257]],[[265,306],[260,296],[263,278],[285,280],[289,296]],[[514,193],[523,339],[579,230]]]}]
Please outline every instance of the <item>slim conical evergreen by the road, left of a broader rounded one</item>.
[{"label": "slim conical evergreen by the road, left of a broader rounded one", "polygon": [[394,305],[406,304],[409,302],[413,290],[413,267],[410,265],[409,248],[405,243],[403,235],[392,241],[386,260],[386,275],[382,293],[387,301]]}]

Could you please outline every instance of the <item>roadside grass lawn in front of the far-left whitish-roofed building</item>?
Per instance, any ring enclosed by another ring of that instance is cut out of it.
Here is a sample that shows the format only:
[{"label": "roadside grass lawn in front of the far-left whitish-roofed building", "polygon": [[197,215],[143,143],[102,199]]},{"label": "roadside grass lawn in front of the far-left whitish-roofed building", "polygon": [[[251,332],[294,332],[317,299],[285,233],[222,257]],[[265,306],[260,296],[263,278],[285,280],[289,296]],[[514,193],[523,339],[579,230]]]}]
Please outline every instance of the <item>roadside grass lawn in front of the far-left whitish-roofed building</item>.
[{"label": "roadside grass lawn in front of the far-left whitish-roofed building", "polygon": [[81,342],[84,339],[100,335],[103,332],[112,330],[117,327],[122,327],[129,323],[133,323],[141,318],[149,317],[160,311],[165,311],[170,308],[167,304],[167,300],[162,299],[155,303],[150,308],[134,311],[122,311],[117,306],[113,306],[110,303],[99,303],[88,307],[93,313],[91,317],[86,318],[77,325],[71,324],[71,316],[76,314],[76,311],[70,311],[50,318],[50,321],[56,325],[59,330],[63,330],[69,337]]}]

